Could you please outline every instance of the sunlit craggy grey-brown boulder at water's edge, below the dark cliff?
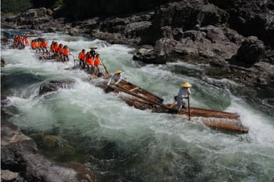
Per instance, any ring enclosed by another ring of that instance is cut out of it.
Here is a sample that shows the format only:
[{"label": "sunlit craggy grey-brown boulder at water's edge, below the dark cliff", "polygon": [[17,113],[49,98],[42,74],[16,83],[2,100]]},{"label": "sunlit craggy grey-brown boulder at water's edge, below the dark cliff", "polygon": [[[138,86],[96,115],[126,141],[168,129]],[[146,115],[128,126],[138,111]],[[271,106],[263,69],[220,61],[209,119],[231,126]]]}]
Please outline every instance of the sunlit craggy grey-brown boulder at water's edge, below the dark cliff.
[{"label": "sunlit craggy grey-brown boulder at water's edge, below the dark cliff", "polygon": [[154,50],[139,48],[133,56],[134,60],[166,63],[193,57],[222,62],[235,55],[244,40],[236,31],[216,26],[205,26],[190,31],[164,26],[161,30],[163,38],[156,41]]}]

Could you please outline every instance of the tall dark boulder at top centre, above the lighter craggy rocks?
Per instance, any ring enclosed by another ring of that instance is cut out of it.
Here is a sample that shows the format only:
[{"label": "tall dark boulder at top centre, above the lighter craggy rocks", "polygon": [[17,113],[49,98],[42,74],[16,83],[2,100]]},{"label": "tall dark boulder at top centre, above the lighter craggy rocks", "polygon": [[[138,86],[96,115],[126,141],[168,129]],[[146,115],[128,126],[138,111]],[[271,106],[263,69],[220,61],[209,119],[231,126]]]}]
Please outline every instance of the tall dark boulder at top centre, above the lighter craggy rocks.
[{"label": "tall dark boulder at top centre, above the lighter craggy rocks", "polygon": [[[228,14],[203,0],[179,1],[165,4],[156,9],[153,18],[155,34],[163,26],[181,27],[184,31],[198,26],[219,25],[228,21]],[[158,36],[158,37],[157,37]],[[161,35],[155,35],[158,39]]]}]

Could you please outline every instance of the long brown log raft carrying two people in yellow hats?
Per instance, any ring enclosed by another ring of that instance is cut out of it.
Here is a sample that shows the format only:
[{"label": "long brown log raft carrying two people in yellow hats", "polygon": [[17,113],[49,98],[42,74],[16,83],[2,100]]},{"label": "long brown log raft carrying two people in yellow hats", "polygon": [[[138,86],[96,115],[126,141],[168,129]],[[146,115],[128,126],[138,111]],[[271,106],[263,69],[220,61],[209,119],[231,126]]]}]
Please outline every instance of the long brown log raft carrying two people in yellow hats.
[{"label": "long brown log raft carrying two people in yellow hats", "polygon": [[[52,57],[48,55],[36,55],[36,57],[44,60],[52,59]],[[131,95],[131,97],[121,96],[121,99],[124,100],[126,104],[133,106],[136,109],[151,109],[152,112],[188,116],[188,108],[181,109],[181,111],[177,113],[175,112],[177,105],[165,105],[163,104],[163,99],[161,97],[158,97],[131,82],[127,82],[126,80],[121,80],[118,85],[110,87],[106,85],[110,77],[111,75],[107,74],[103,79],[98,80],[99,77],[91,76],[88,80],[93,82],[96,87],[101,87],[105,92],[125,92],[127,95]],[[190,114],[191,117],[201,117],[201,122],[205,124],[205,126],[213,129],[243,134],[249,132],[248,127],[241,124],[239,119],[240,116],[236,113],[191,107]]]}]

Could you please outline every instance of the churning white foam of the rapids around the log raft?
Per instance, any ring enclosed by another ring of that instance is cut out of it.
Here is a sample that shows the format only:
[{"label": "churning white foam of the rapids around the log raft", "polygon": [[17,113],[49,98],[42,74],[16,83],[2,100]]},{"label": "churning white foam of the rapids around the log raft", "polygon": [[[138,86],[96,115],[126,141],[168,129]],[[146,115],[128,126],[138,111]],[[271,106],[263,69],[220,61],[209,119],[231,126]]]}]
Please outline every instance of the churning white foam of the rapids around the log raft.
[{"label": "churning white foam of the rapids around the log raft", "polygon": [[[165,102],[173,102],[173,96],[177,94],[181,82],[191,82],[194,85],[191,105],[237,112],[243,124],[250,127],[250,132],[225,133],[203,126],[199,119],[194,118],[194,122],[188,122],[185,116],[134,109],[126,105],[117,97],[118,95],[106,94],[92,85],[86,80],[88,75],[83,71],[64,70],[73,67],[73,61],[67,64],[43,62],[34,58],[29,50],[4,50],[1,51],[7,62],[4,72],[24,70],[34,75],[43,75],[46,80],[76,80],[73,89],[37,96],[37,89],[41,83],[37,82],[26,87],[26,90],[32,90],[34,95],[27,98],[9,97],[13,105],[21,111],[21,114],[13,118],[19,126],[43,131],[53,126],[77,129],[81,131],[82,136],[92,137],[96,134],[117,141],[118,144],[123,141],[128,146],[138,145],[141,139],[149,136],[154,140],[148,144],[147,151],[145,150],[148,154],[143,154],[146,156],[143,161],[146,161],[147,166],[160,160],[157,155],[168,154],[173,160],[167,159],[163,164],[171,164],[179,171],[183,171],[186,166],[193,165],[178,163],[184,160],[183,154],[187,153],[201,166],[201,178],[213,173],[215,179],[223,176],[223,180],[220,181],[230,181],[232,173],[240,173],[242,176],[262,179],[250,171],[253,164],[258,164],[261,175],[271,177],[266,171],[271,171],[271,167],[274,166],[274,119],[240,98],[230,95],[229,90],[214,87],[196,77],[174,74],[166,65],[140,66],[133,63],[133,49],[124,45],[108,45],[104,41],[88,41],[88,38],[56,33],[46,34],[45,38],[50,39],[49,43],[56,40],[68,45],[74,55],[78,55],[82,48],[88,50],[90,45],[98,47],[97,51],[101,53],[101,58],[111,73],[117,69],[123,70],[123,76],[128,81],[163,97]],[[169,64],[196,69],[186,63]],[[223,85],[238,86],[229,80],[214,81],[223,82]],[[160,164],[157,165],[161,168]],[[212,168],[218,170],[214,171]],[[241,179],[246,180],[245,177]]]}]

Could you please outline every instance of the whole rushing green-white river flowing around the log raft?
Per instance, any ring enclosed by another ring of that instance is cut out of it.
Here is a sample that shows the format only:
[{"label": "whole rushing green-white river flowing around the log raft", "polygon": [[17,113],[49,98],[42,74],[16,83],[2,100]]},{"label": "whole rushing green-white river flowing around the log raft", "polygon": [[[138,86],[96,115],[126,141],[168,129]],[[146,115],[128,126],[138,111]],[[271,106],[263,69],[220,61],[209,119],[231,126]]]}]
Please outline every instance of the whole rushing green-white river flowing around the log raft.
[{"label": "whole rushing green-white river flowing around the log raft", "polygon": [[[83,71],[65,70],[73,61],[41,61],[29,48],[1,48],[7,63],[1,68],[1,93],[19,109],[10,120],[29,136],[54,134],[60,146],[68,146],[61,151],[41,147],[49,158],[86,164],[98,181],[274,181],[274,119],[266,112],[273,105],[258,109],[243,95],[250,89],[225,79],[201,80],[197,75],[206,65],[144,65],[132,60],[133,48],[125,45],[61,33],[43,37],[68,45],[73,55],[96,46],[111,73],[123,70],[126,80],[166,103],[173,102],[181,82],[191,82],[192,106],[238,112],[250,127],[248,134],[220,132],[197,118],[188,122],[134,109],[91,85]],[[42,82],[61,78],[76,80],[75,87],[39,96]]]}]

